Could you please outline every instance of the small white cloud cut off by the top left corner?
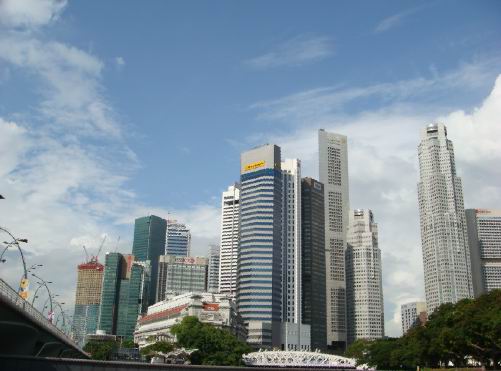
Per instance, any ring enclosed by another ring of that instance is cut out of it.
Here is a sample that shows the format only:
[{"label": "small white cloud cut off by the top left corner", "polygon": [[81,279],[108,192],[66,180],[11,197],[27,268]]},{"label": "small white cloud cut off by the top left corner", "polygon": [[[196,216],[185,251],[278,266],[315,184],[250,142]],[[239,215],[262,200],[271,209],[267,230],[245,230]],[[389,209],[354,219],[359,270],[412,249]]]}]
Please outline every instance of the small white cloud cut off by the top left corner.
[{"label": "small white cloud cut off by the top left corner", "polygon": [[36,28],[56,20],[66,0],[2,0],[0,25]]}]

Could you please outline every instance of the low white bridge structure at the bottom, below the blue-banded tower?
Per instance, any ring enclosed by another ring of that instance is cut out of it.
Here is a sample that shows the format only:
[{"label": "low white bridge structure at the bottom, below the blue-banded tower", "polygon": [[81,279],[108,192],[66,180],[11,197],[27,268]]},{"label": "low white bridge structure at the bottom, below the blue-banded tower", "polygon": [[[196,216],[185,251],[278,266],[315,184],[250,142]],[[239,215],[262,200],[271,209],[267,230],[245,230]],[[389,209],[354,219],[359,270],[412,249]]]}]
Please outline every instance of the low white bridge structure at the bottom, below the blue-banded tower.
[{"label": "low white bridge structure at the bottom, below the blue-banded tower", "polygon": [[242,355],[246,366],[356,369],[355,360],[320,352],[264,350]]}]

